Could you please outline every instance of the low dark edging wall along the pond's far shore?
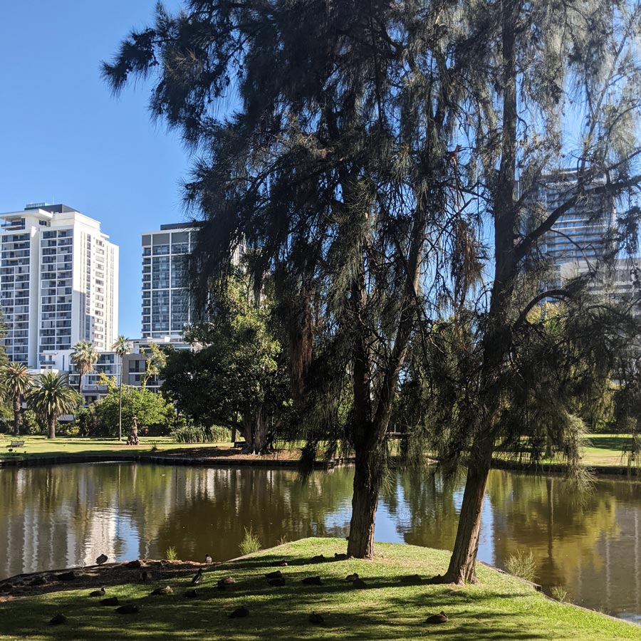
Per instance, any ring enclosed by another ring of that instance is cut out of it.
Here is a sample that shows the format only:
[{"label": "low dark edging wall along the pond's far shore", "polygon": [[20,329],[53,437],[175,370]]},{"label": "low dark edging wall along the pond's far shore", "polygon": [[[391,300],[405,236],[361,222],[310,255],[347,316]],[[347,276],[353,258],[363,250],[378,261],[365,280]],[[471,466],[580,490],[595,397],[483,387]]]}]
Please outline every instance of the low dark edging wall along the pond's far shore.
[{"label": "low dark edging wall along the pond's far shore", "polygon": [[[68,463],[149,463],[153,465],[174,465],[192,467],[274,467],[296,469],[298,459],[261,459],[234,457],[178,457],[163,454],[131,453],[96,453],[96,454],[61,454],[53,456],[27,456],[11,459],[0,459],[0,469],[5,467],[41,467],[43,465],[61,465]],[[337,457],[330,461],[314,462],[314,469],[333,469],[338,465],[350,465],[354,457]],[[561,463],[542,463],[536,466],[518,461],[492,459],[493,469],[524,471],[531,474],[565,474],[566,466]],[[641,477],[641,467],[627,465],[586,465],[585,469],[595,476]]]}]

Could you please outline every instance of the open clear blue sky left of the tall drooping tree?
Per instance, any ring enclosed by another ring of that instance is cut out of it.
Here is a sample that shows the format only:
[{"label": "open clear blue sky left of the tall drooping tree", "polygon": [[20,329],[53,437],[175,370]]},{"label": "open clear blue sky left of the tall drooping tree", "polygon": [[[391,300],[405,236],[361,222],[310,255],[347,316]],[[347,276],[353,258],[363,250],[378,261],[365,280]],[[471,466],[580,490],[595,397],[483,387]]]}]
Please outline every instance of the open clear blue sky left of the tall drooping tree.
[{"label": "open clear blue sky left of the tall drooping tree", "polygon": [[140,337],[140,233],[184,219],[188,162],[177,136],[150,122],[149,86],[113,98],[99,70],[154,6],[4,2],[0,21],[0,212],[55,199],[98,219],[120,246],[119,331],[129,338]]}]

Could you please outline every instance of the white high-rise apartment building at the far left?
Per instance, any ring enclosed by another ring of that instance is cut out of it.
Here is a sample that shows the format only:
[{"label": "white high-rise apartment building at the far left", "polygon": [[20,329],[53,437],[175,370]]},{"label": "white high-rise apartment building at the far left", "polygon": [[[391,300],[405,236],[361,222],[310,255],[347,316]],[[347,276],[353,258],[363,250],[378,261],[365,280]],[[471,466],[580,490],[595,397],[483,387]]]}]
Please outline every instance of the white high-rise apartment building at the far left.
[{"label": "white high-rise apartment building at the far left", "polygon": [[79,340],[118,336],[118,247],[100,223],[63,204],[0,214],[0,306],[10,360],[71,370]]}]

